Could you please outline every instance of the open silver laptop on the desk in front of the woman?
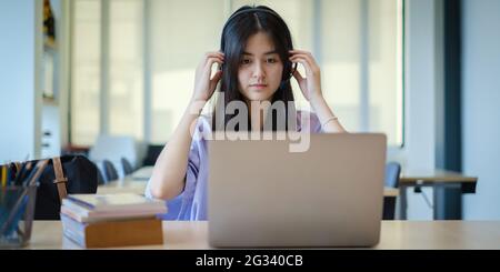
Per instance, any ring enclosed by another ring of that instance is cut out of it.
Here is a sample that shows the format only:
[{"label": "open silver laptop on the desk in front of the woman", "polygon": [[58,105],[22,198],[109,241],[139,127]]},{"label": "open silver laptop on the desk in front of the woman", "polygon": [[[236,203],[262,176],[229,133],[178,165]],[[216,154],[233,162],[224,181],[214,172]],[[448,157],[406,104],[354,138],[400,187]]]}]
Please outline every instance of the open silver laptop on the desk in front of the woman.
[{"label": "open silver laptop on the desk in front of the woman", "polygon": [[[297,139],[297,138],[296,138]],[[373,246],[379,242],[384,134],[209,141],[209,243],[216,248]]]}]

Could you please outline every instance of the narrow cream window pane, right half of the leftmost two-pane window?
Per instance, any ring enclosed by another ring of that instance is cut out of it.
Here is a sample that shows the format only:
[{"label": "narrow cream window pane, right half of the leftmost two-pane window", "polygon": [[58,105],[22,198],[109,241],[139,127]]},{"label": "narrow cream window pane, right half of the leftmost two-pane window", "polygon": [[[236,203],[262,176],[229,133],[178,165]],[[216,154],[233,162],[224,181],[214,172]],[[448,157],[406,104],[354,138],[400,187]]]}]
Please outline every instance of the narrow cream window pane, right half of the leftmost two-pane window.
[{"label": "narrow cream window pane, right half of the leftmost two-pane window", "polygon": [[111,0],[109,133],[143,139],[143,1]]}]

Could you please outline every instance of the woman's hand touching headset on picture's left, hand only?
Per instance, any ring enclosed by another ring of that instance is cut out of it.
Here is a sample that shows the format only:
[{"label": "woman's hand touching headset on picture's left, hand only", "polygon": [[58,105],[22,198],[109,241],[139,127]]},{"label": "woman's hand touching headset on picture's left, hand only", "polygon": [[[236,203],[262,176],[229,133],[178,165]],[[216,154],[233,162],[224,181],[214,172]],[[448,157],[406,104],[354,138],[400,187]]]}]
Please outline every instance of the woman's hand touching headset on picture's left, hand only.
[{"label": "woman's hand touching headset on picture's left, hand only", "polygon": [[212,66],[214,63],[223,64],[224,54],[222,52],[208,52],[204,54],[200,64],[198,64],[194,77],[193,101],[207,102],[216,91],[217,83],[222,78],[222,71],[218,70],[213,77]]}]

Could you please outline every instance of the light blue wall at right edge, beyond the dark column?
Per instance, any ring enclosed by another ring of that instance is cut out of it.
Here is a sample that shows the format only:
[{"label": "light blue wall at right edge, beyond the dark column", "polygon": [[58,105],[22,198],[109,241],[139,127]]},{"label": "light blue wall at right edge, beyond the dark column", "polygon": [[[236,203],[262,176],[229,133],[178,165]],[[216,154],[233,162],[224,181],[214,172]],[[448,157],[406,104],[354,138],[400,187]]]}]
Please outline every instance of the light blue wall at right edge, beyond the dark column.
[{"label": "light blue wall at right edge, beyond the dark column", "polygon": [[500,1],[463,0],[462,163],[478,175],[464,219],[500,219]]}]

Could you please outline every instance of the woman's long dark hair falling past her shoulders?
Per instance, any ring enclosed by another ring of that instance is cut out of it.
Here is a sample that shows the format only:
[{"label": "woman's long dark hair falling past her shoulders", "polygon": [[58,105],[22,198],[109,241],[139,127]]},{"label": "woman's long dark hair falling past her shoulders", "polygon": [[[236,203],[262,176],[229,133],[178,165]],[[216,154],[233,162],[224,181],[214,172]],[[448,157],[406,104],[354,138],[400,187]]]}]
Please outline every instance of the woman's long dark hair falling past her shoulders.
[{"label": "woman's long dark hair falling past her shoulders", "polygon": [[[282,121],[281,123],[284,123],[284,130],[292,129],[289,127],[294,127],[297,113],[293,102],[293,92],[290,84],[292,63],[289,60],[289,50],[293,49],[293,44],[287,23],[276,11],[266,6],[241,7],[232,13],[222,29],[220,50],[224,53],[224,64],[222,66],[222,78],[219,91],[224,94],[224,99],[222,100],[219,98],[216,102],[216,108],[221,107],[220,103],[228,105],[232,101],[244,102],[243,94],[241,94],[239,90],[238,70],[248,39],[258,32],[269,34],[270,39],[274,43],[274,49],[283,63],[281,84],[272,95],[271,103],[277,101],[284,103],[286,112],[283,115],[287,121]],[[290,109],[289,102],[290,105],[292,105]],[[272,130],[277,131],[277,112],[269,111],[266,121],[270,118],[269,113],[272,114]],[[239,112],[236,112],[236,114],[224,113],[224,118],[221,119],[221,122],[216,123],[217,111],[214,111],[212,130],[226,130],[227,123],[237,114],[239,114]],[[248,114],[248,128],[250,128],[250,114]],[[236,130],[239,130],[239,128],[237,127]]]}]

